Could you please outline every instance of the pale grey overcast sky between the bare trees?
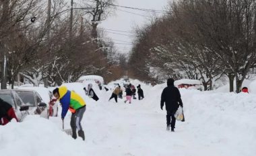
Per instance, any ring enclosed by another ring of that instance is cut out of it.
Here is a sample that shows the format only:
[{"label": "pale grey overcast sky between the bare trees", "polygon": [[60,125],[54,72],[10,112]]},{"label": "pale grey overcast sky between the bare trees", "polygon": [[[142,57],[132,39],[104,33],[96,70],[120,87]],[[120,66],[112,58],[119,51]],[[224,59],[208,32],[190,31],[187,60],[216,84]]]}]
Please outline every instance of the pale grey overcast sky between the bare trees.
[{"label": "pale grey overcast sky between the bare trees", "polygon": [[[168,4],[168,0],[116,0],[115,4],[125,7],[162,10]],[[161,13],[156,14],[161,15]],[[133,32],[135,25],[141,27],[144,23],[148,23],[150,21],[148,16],[151,15],[153,13],[147,11],[116,7],[115,15],[108,17],[106,21],[102,21],[99,27],[115,30],[106,30],[108,31],[106,32],[108,37],[112,38],[113,42],[116,43],[115,46],[119,50],[119,53],[128,54],[134,36],[134,33],[129,32]]]}]

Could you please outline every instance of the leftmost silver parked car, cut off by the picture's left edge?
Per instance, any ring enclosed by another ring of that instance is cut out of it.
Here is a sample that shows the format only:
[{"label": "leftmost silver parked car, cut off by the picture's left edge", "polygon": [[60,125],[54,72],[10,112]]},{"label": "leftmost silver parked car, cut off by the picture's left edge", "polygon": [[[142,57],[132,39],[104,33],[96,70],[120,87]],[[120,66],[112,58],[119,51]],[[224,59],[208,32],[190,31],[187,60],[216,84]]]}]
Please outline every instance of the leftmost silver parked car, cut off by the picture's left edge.
[{"label": "leftmost silver parked car, cut off by the picture's left edge", "polygon": [[20,96],[14,90],[0,90],[0,98],[13,106],[19,122],[22,122],[29,114],[29,106],[24,104]]}]

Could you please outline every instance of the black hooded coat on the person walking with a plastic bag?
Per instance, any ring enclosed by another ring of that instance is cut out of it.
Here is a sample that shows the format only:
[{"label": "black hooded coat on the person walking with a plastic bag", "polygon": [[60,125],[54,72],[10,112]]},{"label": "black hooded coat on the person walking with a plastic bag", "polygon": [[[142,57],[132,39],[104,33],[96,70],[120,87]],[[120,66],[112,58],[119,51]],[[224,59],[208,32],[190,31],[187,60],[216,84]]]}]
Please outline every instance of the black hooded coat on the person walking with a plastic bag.
[{"label": "black hooded coat on the person walking with a plastic bag", "polygon": [[181,93],[179,89],[175,86],[167,86],[162,91],[161,95],[161,108],[164,106],[168,111],[176,111],[180,106],[183,106],[183,102],[181,100]]}]

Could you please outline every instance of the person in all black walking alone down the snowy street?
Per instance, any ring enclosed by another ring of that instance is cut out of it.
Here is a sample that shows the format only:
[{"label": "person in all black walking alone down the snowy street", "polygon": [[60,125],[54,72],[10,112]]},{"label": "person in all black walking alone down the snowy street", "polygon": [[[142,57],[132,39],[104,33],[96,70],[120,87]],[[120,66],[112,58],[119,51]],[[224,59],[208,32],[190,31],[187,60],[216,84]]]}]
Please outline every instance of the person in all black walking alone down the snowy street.
[{"label": "person in all black walking alone down the snowy street", "polygon": [[[164,102],[165,102],[165,108],[167,111],[166,130],[170,131],[170,127],[171,127],[171,131],[174,132],[175,122],[176,122],[174,114],[179,108],[179,106],[183,107],[183,102],[181,100],[181,93],[179,92],[179,89],[174,86],[174,80],[172,78],[168,78],[167,87],[164,88],[164,90],[162,91],[161,109],[164,106]],[[172,118],[172,120],[170,120],[170,118]]]}]

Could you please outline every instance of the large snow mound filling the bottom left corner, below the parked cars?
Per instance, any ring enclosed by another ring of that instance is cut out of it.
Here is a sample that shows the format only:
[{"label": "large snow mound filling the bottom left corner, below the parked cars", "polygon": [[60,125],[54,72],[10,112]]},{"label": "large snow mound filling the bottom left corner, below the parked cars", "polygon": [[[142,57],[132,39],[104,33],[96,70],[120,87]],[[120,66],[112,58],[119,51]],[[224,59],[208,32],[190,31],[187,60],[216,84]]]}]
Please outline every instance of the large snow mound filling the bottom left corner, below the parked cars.
[{"label": "large snow mound filling the bottom left corner, below the parked cars", "polygon": [[[11,130],[11,131],[10,131]],[[57,125],[39,116],[0,128],[0,153],[5,156],[84,155],[84,141],[74,141]]]}]

